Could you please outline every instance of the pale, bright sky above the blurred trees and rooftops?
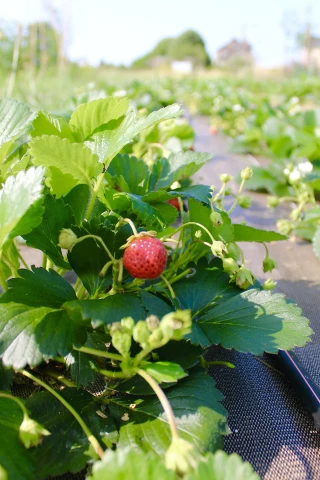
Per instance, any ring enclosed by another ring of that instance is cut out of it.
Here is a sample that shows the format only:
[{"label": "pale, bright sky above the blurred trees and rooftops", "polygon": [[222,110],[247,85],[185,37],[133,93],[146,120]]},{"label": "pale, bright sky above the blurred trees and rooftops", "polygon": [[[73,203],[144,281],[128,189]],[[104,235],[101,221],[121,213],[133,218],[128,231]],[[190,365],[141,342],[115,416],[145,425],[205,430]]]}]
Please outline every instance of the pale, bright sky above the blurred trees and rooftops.
[{"label": "pale, bright sky above the blurred trees and rooftops", "polygon": [[212,57],[245,38],[258,65],[275,67],[297,58],[294,38],[308,21],[320,36],[319,0],[0,0],[0,19],[48,20],[48,4],[65,25],[67,55],[92,65],[129,65],[162,38],[193,29]]}]

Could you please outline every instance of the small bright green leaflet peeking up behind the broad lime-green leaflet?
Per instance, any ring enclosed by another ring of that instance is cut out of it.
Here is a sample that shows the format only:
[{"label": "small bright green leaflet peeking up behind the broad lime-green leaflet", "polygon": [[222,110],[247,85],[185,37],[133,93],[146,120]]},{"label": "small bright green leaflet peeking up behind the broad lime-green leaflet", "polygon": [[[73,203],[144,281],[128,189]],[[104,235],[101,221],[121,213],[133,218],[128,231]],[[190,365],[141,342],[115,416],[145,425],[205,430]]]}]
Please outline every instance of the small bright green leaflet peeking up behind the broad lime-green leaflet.
[{"label": "small bright green leaflet peeking up behind the broad lime-green leaflet", "polygon": [[38,112],[32,126],[31,136],[33,138],[41,135],[57,135],[60,138],[68,138],[71,142],[75,141],[68,122],[64,118],[55,117],[45,111]]}]

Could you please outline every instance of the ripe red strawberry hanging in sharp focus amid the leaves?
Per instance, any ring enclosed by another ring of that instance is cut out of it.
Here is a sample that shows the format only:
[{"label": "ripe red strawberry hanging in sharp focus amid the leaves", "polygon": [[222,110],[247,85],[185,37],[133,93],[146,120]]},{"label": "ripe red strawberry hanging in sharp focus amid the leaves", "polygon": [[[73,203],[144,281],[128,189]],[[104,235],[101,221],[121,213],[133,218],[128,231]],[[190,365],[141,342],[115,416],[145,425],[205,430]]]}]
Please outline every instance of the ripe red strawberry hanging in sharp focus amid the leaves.
[{"label": "ripe red strawberry hanging in sharp focus amid the leaves", "polygon": [[125,249],[123,265],[135,278],[157,278],[166,268],[167,251],[158,238],[135,238]]}]

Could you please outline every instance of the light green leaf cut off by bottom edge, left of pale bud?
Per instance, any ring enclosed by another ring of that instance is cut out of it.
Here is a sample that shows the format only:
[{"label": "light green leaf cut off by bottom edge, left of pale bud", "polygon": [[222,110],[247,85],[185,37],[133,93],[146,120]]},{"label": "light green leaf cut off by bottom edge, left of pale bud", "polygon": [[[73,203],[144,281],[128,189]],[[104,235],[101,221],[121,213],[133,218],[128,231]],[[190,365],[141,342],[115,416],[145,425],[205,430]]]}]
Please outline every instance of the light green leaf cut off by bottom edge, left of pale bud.
[{"label": "light green leaf cut off by bottom edge, left of pale bud", "polygon": [[176,474],[166,470],[159,458],[134,449],[107,450],[102,462],[93,465],[88,480],[175,480]]}]

